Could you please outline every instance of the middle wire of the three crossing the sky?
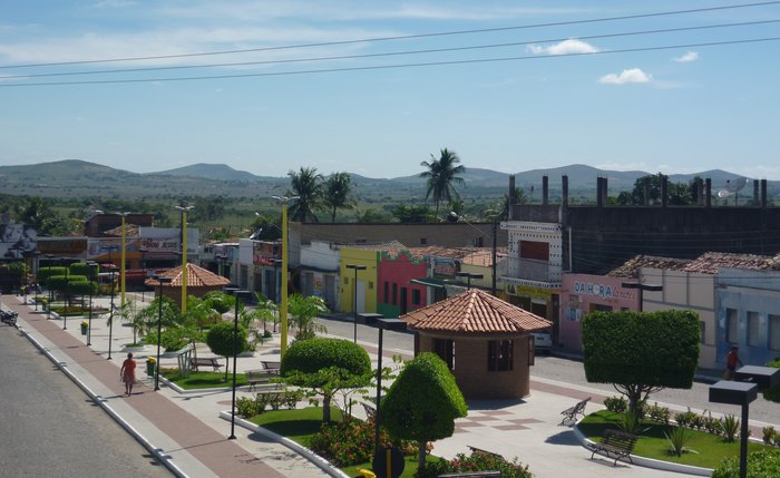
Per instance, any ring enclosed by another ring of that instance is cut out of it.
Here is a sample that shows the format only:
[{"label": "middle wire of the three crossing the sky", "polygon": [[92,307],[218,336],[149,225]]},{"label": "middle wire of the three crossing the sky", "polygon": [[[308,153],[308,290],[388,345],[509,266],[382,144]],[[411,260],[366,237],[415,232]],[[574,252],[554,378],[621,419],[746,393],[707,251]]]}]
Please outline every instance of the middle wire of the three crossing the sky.
[{"label": "middle wire of the three crossing the sky", "polygon": [[382,53],[343,55],[343,56],[333,56],[333,57],[311,57],[311,58],[294,58],[294,59],[283,59],[283,60],[241,61],[241,62],[230,62],[230,64],[177,65],[177,66],[167,66],[167,67],[124,68],[124,69],[96,70],[96,71],[66,71],[66,72],[52,72],[52,74],[12,75],[12,76],[3,76],[2,79],[10,80],[10,79],[20,79],[20,78],[43,78],[43,77],[82,76],[82,75],[108,75],[108,74],[126,74],[126,72],[142,72],[142,71],[181,70],[181,69],[193,69],[193,68],[242,67],[242,66],[256,66],[256,65],[282,65],[282,64],[296,64],[296,62],[394,57],[394,56],[404,56],[404,55],[442,53],[442,52],[451,52],[451,51],[520,47],[520,46],[537,45],[537,43],[555,43],[555,42],[571,40],[571,39],[595,40],[595,39],[601,39],[601,38],[617,38],[617,37],[632,37],[632,36],[642,36],[642,35],[671,33],[671,32],[691,31],[691,30],[709,30],[709,29],[714,29],[714,28],[748,27],[748,26],[777,23],[777,22],[780,22],[780,20],[773,19],[773,20],[744,21],[744,22],[738,22],[738,23],[718,23],[718,25],[696,26],[696,27],[677,27],[677,28],[655,29],[655,30],[624,31],[624,32],[617,32],[617,33],[589,35],[589,36],[584,36],[584,37],[550,38],[550,39],[544,39],[544,40],[515,41],[515,42],[508,42],[508,43],[475,45],[475,46],[467,46],[467,47],[391,51],[391,52],[382,52]]}]

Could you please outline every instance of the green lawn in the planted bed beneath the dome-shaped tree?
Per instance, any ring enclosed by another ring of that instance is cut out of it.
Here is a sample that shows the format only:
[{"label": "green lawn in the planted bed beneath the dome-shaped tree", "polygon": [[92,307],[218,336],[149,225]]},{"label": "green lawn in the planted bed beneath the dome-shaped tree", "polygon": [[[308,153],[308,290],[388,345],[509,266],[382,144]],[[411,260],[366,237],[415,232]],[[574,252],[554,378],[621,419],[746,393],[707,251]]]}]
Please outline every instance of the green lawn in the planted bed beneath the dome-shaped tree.
[{"label": "green lawn in the planted bed beneath the dome-shaped tree", "polygon": [[[331,419],[334,421],[341,420],[341,412],[335,407],[331,408]],[[322,426],[322,408],[308,407],[295,410],[271,410],[253,417],[250,421],[290,438],[304,447],[309,447],[312,435],[320,431]],[[437,457],[428,457],[429,461],[438,459]],[[412,478],[415,471],[417,471],[417,456],[406,457],[404,461],[406,466],[401,478]],[[352,465],[341,468],[341,470],[351,477],[357,477],[358,468],[371,469],[371,464]]]}]

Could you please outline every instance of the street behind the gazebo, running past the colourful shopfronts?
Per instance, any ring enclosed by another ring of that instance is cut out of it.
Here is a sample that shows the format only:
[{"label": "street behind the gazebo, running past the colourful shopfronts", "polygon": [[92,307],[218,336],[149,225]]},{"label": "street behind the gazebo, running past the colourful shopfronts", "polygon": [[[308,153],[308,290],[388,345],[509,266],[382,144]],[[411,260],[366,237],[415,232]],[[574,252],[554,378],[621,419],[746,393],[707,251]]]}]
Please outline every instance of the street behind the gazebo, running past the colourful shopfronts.
[{"label": "street behind the gazebo, running past the colourful shopfronts", "polygon": [[[320,319],[321,324],[325,325],[328,333],[345,339],[353,338],[353,323],[344,319]],[[358,341],[377,343],[377,329],[358,325]],[[410,333],[384,332],[382,345],[386,350],[413,350],[413,336]],[[457,359],[456,359],[457,360]],[[457,365],[456,365],[457,367]],[[537,355],[536,364],[530,368],[532,378],[546,380],[555,380],[558,382],[572,384],[574,387],[597,390],[607,396],[618,396],[614,387],[610,383],[589,383],[585,379],[585,369],[578,360],[555,357],[555,355]],[[659,402],[672,409],[685,410],[690,407],[693,411],[703,412],[709,410],[713,413],[732,413],[738,418],[741,414],[740,407],[727,406],[723,403],[711,403],[709,400],[710,384],[705,382],[694,382],[690,390],[683,389],[664,389],[660,392],[651,393],[649,402]],[[673,411],[672,413],[674,413]],[[759,398],[750,403],[750,419],[766,423],[773,423],[776,428],[780,425],[780,403],[770,402],[763,399],[759,393]]]}]

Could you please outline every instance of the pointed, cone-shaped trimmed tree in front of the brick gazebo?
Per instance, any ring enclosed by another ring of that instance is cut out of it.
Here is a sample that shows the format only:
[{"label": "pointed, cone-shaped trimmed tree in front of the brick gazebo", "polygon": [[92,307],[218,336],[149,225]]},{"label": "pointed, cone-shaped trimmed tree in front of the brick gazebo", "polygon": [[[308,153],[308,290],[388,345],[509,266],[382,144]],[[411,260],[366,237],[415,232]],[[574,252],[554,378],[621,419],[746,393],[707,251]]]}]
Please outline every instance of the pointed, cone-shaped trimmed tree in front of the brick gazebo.
[{"label": "pointed, cone-shaped trimmed tree in front of the brick gazebo", "polygon": [[451,437],[455,419],[467,412],[455,377],[445,361],[430,352],[407,363],[380,408],[382,423],[391,436],[417,441],[418,472],[426,464],[428,441]]}]

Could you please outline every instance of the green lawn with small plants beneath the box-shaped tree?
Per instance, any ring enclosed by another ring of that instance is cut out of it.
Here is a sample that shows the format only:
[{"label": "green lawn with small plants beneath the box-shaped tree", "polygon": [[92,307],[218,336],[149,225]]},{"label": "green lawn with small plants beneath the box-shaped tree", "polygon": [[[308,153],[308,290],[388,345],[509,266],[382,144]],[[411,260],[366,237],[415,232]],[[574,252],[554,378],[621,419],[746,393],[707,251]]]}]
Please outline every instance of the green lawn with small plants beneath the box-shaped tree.
[{"label": "green lawn with small plants beneath the box-shaped tree", "polygon": [[[604,429],[618,428],[616,425],[618,417],[618,413],[602,410],[585,417],[578,427],[588,439],[601,441]],[[691,439],[685,443],[685,447],[695,450],[696,453],[688,452],[683,453],[682,457],[675,457],[669,452],[670,443],[664,436],[664,432],[671,435],[673,428],[674,426],[672,425],[643,420],[641,427],[643,431],[638,433],[640,439],[634,447],[634,455],[704,468],[714,468],[723,458],[739,457],[740,455],[739,439],[733,443],[727,443],[723,437],[704,431],[690,430]],[[763,448],[766,447],[762,443],[748,442],[748,452]]]}]

